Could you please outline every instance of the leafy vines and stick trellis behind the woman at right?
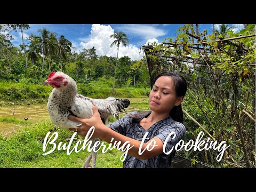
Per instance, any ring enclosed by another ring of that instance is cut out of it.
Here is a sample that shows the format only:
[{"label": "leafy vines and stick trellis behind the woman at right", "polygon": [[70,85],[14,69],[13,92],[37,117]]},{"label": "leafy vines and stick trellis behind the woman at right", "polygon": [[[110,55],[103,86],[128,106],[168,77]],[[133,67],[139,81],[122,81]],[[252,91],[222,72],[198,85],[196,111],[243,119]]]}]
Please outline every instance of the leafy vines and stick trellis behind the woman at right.
[{"label": "leafy vines and stick trellis behind the woman at right", "polygon": [[[167,45],[143,47],[150,77],[167,69],[186,78],[188,91],[182,106],[194,118],[184,114],[187,141],[207,131],[205,138],[230,145],[221,162],[212,150],[196,151],[187,158],[215,167],[255,167],[255,25],[238,33],[222,26],[218,38],[223,41],[217,41],[215,34],[207,35],[206,30],[193,31],[193,25],[185,25],[175,41],[166,38]],[[254,36],[224,41],[246,35]]]}]

